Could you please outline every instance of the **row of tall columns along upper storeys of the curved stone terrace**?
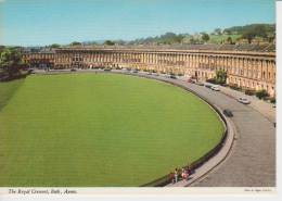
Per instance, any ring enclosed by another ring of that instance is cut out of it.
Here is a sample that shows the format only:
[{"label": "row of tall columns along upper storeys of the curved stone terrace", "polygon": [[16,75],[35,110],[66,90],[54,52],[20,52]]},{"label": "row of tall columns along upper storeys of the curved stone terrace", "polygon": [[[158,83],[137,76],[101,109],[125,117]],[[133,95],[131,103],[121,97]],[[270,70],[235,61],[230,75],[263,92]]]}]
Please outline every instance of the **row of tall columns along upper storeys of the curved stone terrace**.
[{"label": "row of tall columns along upper storeys of the curved stone terrace", "polygon": [[256,59],[255,56],[216,55],[203,53],[179,52],[59,52],[31,53],[25,55],[28,60],[54,60],[55,64],[70,64],[72,62],[88,63],[128,63],[149,66],[170,66],[195,68],[198,71],[225,70],[229,74],[254,79],[274,80],[275,61],[273,59]]}]

